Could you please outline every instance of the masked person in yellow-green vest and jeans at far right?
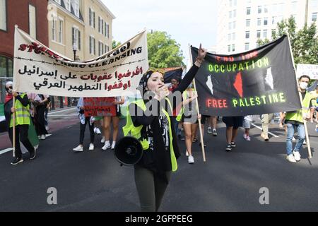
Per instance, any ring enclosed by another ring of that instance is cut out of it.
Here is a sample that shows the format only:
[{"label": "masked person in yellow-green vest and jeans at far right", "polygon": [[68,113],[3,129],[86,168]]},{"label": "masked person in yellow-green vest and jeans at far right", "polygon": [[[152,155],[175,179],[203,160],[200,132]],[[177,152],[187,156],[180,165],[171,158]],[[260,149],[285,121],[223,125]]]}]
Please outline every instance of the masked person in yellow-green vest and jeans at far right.
[{"label": "masked person in yellow-green vest and jeans at far right", "polygon": [[[293,112],[286,112],[285,116],[285,124],[287,126],[286,159],[293,163],[300,161],[300,148],[302,147],[302,143],[305,141],[304,120],[307,121],[310,119],[310,102],[318,96],[307,92],[306,88],[309,82],[310,76],[300,76],[298,81],[298,90],[302,95],[302,109]],[[295,148],[293,148],[293,136],[296,129],[298,131],[298,141]]]}]

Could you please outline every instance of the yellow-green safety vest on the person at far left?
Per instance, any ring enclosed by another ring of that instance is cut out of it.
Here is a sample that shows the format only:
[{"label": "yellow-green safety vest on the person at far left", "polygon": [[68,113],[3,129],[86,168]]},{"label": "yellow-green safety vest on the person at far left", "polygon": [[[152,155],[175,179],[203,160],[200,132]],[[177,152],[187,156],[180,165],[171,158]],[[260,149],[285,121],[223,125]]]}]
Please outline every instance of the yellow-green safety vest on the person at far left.
[{"label": "yellow-green safety vest on the person at far left", "polygon": [[[23,93],[20,97],[23,98],[25,95],[26,93]],[[16,126],[30,125],[30,105],[24,107],[19,100],[16,100],[16,102],[14,102],[14,108],[16,109]],[[13,114],[11,114],[10,128],[13,127]]]}]

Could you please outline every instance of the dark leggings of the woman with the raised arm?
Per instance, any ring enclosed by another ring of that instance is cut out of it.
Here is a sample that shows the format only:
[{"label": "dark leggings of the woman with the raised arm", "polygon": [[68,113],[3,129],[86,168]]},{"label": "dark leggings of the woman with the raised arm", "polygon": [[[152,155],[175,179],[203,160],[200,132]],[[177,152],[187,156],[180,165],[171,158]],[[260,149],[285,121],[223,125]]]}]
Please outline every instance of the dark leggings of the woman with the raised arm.
[{"label": "dark leggings of the woman with the raised arm", "polygon": [[[167,183],[150,169],[134,165],[134,171],[141,211],[158,211]],[[166,172],[166,176],[167,180],[170,181],[171,172]]]}]

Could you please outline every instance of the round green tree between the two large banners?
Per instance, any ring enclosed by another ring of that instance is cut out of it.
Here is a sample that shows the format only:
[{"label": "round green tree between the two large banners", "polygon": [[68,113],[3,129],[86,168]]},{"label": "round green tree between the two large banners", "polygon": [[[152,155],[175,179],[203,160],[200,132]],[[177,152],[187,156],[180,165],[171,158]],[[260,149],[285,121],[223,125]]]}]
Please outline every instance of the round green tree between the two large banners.
[{"label": "round green tree between the two large banners", "polygon": [[147,34],[148,61],[150,67],[167,68],[184,66],[180,44],[167,32],[155,31]]}]

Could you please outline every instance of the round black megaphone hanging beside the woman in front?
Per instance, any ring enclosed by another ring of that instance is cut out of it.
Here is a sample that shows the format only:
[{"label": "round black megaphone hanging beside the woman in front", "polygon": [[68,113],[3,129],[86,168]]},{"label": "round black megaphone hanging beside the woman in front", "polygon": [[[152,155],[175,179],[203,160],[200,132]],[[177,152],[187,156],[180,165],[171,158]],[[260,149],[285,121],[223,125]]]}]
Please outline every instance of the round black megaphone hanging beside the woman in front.
[{"label": "round black megaphone hanging beside the woman in front", "polygon": [[114,156],[121,165],[135,165],[143,156],[143,146],[132,136],[124,136],[114,146]]}]

